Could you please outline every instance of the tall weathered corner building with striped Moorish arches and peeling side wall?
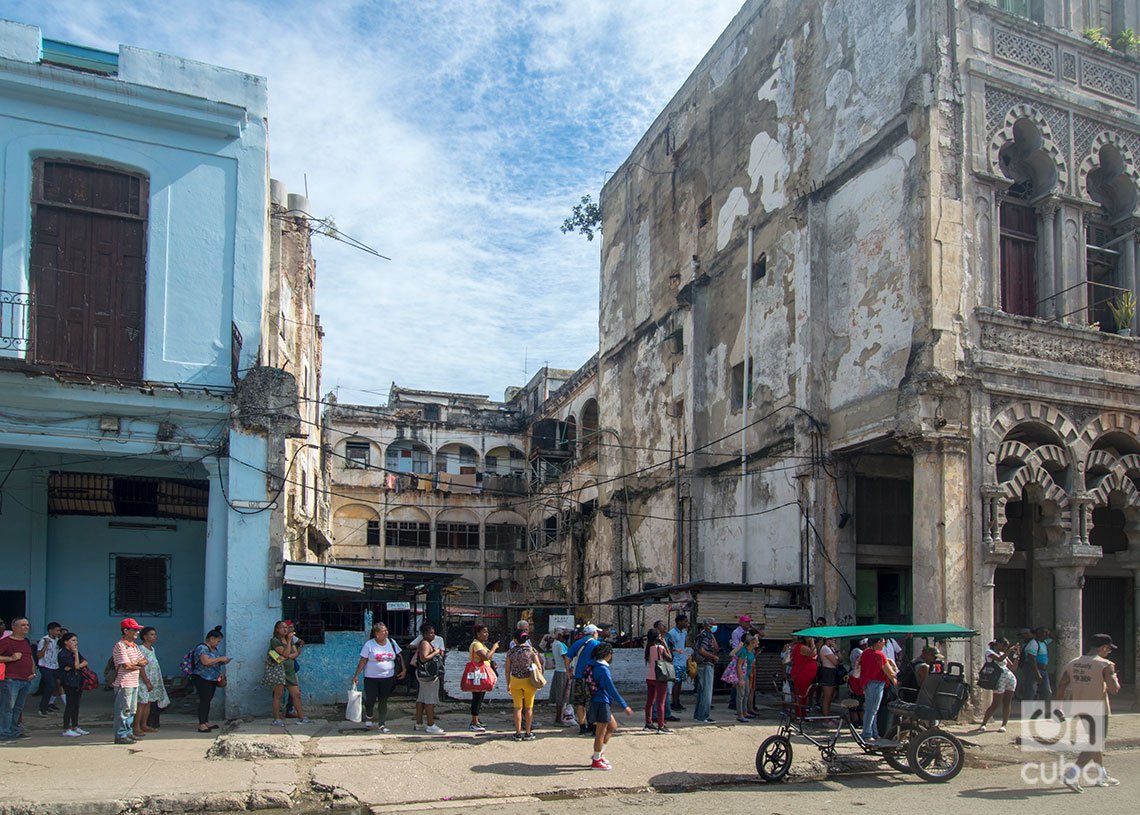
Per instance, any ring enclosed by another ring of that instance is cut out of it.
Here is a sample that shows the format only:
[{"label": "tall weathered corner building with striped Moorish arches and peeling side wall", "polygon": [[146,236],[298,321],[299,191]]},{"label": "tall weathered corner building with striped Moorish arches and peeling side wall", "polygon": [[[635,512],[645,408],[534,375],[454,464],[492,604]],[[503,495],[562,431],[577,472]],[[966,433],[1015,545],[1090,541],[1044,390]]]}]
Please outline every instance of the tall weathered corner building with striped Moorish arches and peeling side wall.
[{"label": "tall weathered corner building with striped Moorish arches and peeling side wall", "polygon": [[1138,62],[1081,32],[1138,14],[744,5],[603,189],[592,595],[809,582],[1132,680]]}]

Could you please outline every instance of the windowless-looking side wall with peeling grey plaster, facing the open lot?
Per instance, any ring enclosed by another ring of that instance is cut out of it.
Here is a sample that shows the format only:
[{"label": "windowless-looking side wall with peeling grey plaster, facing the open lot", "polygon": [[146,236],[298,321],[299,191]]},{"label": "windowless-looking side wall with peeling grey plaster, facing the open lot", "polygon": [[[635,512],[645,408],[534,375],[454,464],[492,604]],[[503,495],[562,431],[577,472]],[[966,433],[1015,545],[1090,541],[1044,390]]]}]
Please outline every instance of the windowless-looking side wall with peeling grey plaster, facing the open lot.
[{"label": "windowless-looking side wall with peeling grey plaster, facing the open lot", "polygon": [[601,463],[595,597],[817,577],[800,507],[829,489],[829,411],[893,409],[928,313],[920,6],[746,3],[603,189],[598,394],[625,455]]}]

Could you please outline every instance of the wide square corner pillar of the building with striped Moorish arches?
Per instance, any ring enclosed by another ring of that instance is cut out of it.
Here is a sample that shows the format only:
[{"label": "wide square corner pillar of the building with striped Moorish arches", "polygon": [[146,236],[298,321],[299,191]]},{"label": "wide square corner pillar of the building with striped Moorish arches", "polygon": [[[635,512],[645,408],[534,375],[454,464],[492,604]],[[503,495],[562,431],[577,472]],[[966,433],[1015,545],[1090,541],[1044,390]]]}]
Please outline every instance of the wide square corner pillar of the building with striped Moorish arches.
[{"label": "wide square corner pillar of the building with striped Moorish arches", "polygon": [[913,619],[964,622],[970,617],[969,463],[964,440],[920,439],[912,443]]}]

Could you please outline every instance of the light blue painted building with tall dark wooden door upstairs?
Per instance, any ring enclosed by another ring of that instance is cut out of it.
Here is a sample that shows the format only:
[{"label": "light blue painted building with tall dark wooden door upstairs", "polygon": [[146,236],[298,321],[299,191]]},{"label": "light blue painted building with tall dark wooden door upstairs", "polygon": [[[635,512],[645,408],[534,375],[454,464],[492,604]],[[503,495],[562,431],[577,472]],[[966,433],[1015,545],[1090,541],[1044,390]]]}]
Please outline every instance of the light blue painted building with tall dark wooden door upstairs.
[{"label": "light blue painted building with tall dark wooden door upstairs", "polygon": [[226,707],[279,616],[288,374],[259,367],[266,82],[0,21],[0,617],[104,660],[122,617],[168,675],[214,625]]}]

